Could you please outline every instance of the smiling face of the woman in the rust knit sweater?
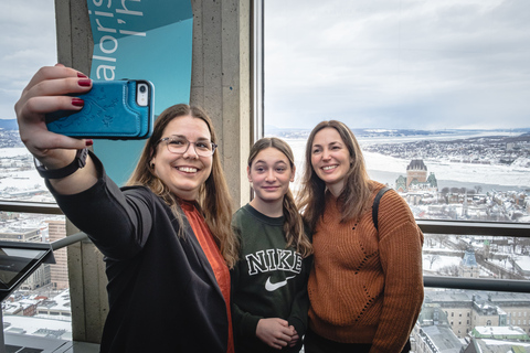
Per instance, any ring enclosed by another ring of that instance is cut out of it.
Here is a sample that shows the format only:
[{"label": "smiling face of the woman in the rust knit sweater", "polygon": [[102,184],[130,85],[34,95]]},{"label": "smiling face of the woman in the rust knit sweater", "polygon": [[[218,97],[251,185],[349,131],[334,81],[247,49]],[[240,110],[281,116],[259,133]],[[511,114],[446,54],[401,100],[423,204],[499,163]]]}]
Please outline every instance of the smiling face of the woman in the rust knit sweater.
[{"label": "smiling face of the woman in the rust knit sweater", "polygon": [[340,195],[352,159],[335,128],[324,128],[315,135],[311,146],[311,165],[335,196]]}]

